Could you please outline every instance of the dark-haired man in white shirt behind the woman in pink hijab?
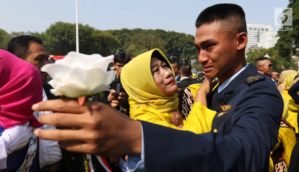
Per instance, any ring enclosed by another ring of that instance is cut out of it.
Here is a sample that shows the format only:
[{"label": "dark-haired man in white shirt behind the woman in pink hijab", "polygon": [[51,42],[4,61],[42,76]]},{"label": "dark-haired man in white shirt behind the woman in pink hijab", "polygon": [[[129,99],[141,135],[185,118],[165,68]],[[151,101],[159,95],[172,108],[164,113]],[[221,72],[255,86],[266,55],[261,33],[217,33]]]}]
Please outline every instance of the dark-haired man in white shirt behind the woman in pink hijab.
[{"label": "dark-haired man in white shirt behind the woman in pink hijab", "polygon": [[[31,35],[21,35],[12,38],[7,47],[8,51],[17,57],[27,61],[28,63],[35,66],[39,71],[45,64],[48,64],[49,55],[46,49],[42,46],[42,40],[40,38]],[[48,73],[41,72],[42,82],[45,82],[48,77]],[[45,93],[45,89],[42,89],[42,100],[48,100]],[[40,111],[38,115],[50,114],[52,111]],[[51,125],[44,125],[45,129],[56,129],[56,127]],[[62,153],[58,142],[50,140],[39,139],[38,145],[38,155],[39,155],[39,165],[38,171],[53,171],[59,172],[63,171],[62,167]]]}]

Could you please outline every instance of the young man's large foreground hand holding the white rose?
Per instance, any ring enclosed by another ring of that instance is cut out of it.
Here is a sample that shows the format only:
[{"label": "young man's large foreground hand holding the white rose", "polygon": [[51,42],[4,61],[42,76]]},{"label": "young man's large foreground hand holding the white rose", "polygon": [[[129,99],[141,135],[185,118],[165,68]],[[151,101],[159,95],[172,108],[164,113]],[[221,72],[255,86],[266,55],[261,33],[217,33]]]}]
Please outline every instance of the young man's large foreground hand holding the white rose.
[{"label": "young man's large foreground hand holding the white rose", "polygon": [[[37,129],[41,139],[58,141],[68,151],[103,156],[141,154],[141,124],[111,106],[99,102],[75,100],[48,100],[32,106],[35,111],[57,111],[43,114],[43,124],[70,129]],[[71,129],[76,128],[76,129]]]}]

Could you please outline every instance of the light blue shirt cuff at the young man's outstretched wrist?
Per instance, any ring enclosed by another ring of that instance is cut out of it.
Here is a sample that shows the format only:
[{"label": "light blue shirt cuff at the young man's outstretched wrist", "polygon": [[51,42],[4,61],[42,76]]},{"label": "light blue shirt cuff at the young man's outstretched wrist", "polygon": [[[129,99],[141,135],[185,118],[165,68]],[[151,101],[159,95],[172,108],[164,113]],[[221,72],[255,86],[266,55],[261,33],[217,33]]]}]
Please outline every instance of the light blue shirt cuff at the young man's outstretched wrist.
[{"label": "light blue shirt cuff at the young man's outstretched wrist", "polygon": [[[141,123],[140,123],[141,125]],[[142,137],[142,149],[141,149],[141,157],[135,155],[128,155],[128,167],[130,172],[144,172],[144,137],[143,137],[143,129],[141,125],[141,137]]]}]

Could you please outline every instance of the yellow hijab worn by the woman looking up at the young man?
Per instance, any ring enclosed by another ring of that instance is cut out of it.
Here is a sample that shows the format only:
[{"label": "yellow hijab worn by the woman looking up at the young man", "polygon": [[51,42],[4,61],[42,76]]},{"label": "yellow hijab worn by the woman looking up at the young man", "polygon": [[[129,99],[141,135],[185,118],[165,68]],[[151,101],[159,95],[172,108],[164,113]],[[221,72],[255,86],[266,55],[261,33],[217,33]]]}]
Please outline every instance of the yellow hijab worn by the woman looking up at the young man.
[{"label": "yellow hijab worn by the woman looking up at the young man", "polygon": [[[160,49],[152,49],[138,55],[123,66],[120,75],[121,83],[130,97],[129,100],[132,100],[133,104],[136,104],[135,109],[152,108],[162,113],[173,111],[179,106],[177,94],[173,94],[172,96],[163,94],[158,89],[152,77],[150,61],[154,51],[158,51],[168,63],[168,66],[171,67],[166,56]],[[172,72],[174,73],[173,69]],[[130,104],[132,104],[132,102]]]}]

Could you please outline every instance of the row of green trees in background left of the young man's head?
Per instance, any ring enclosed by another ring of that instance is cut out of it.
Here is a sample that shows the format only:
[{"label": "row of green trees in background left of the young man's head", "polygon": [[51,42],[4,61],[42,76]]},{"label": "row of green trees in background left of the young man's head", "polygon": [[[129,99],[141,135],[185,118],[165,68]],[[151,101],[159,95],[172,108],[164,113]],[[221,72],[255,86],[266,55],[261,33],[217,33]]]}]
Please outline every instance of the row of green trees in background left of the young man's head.
[{"label": "row of green trees in background left of the young man's head", "polygon": [[[43,40],[50,55],[66,55],[70,51],[76,51],[76,25],[72,23],[56,22],[41,33],[28,31],[8,34],[0,30],[0,38],[3,35],[8,35],[8,41],[18,35],[37,36]],[[89,25],[79,24],[79,52],[84,54],[99,53],[107,56],[117,52],[126,52],[136,57],[151,49],[159,48],[169,60],[191,63],[192,60],[197,61],[194,39],[193,35],[161,29],[136,28],[103,31],[96,30]],[[0,42],[0,46],[7,47],[8,41]]]}]

